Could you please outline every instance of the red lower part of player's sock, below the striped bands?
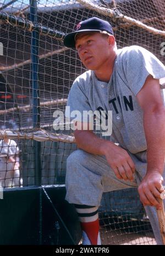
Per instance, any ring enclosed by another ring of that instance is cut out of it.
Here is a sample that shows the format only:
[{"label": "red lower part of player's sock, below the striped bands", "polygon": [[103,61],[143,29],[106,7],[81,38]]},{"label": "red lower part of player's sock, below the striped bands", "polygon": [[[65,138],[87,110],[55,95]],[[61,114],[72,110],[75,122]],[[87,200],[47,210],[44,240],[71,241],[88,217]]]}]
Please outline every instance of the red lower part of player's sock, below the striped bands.
[{"label": "red lower part of player's sock, below the striped bands", "polygon": [[81,222],[81,228],[85,231],[92,245],[97,245],[98,231],[100,229],[98,219],[92,222]]}]

